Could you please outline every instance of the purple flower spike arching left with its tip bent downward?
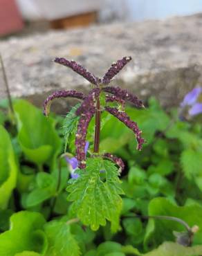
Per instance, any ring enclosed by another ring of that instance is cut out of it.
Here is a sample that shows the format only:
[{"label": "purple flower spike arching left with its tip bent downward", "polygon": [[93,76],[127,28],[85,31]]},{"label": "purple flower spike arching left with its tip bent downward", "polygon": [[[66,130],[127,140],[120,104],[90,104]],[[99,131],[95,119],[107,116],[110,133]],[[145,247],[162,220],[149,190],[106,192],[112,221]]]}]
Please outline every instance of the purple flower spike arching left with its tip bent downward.
[{"label": "purple flower spike arching left with its tip bent downward", "polygon": [[77,98],[79,100],[84,100],[86,96],[84,93],[80,93],[75,90],[71,91],[55,91],[44,101],[44,115],[48,116],[50,111],[50,104],[55,98]]}]

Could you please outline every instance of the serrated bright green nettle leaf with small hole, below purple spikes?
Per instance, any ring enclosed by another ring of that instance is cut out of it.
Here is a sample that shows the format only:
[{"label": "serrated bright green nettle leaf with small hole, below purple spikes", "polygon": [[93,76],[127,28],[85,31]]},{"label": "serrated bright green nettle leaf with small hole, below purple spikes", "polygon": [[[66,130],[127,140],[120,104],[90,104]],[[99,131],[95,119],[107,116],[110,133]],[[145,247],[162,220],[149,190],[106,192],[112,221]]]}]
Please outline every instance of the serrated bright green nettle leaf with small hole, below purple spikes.
[{"label": "serrated bright green nettle leaf with small hole, below purple spikes", "polygon": [[[100,178],[100,170],[106,173],[106,181]],[[107,160],[89,158],[86,169],[78,172],[78,179],[71,179],[67,191],[68,200],[73,201],[73,209],[77,217],[92,230],[111,221],[113,231],[118,229],[119,215],[122,208],[122,194],[118,169]]]}]

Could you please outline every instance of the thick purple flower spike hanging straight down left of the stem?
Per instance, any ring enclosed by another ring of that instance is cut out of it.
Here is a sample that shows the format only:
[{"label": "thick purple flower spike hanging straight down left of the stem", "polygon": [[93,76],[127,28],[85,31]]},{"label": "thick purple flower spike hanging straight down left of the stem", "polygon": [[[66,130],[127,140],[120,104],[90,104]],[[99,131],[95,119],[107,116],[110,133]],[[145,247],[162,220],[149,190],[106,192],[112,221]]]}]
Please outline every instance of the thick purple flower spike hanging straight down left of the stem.
[{"label": "thick purple flower spike hanging straight down left of the stem", "polygon": [[89,127],[89,122],[95,114],[95,108],[85,113],[82,113],[80,120],[77,125],[77,133],[75,135],[75,147],[76,147],[76,158],[78,161],[78,167],[84,169],[86,167],[86,134]]}]

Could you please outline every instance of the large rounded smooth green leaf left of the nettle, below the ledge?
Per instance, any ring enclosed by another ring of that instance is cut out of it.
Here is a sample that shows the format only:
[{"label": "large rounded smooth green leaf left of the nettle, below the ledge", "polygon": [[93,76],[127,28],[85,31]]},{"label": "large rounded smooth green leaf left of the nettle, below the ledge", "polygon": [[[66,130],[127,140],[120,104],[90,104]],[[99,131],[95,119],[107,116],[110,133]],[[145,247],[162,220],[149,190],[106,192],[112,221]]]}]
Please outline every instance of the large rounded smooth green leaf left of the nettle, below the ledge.
[{"label": "large rounded smooth green leaf left of the nettle, below the ledge", "polygon": [[54,163],[61,141],[53,120],[44,117],[42,111],[24,100],[17,101],[14,109],[17,116],[17,137],[26,157],[37,165],[50,161]]}]

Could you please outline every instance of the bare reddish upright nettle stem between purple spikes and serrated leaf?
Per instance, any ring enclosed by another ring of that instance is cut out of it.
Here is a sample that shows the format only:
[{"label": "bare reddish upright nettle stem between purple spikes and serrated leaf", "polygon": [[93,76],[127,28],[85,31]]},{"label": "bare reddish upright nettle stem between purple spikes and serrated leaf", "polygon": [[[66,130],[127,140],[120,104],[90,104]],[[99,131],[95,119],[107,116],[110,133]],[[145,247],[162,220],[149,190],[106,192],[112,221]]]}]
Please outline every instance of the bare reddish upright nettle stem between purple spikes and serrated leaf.
[{"label": "bare reddish upright nettle stem between purple spikes and serrated leaf", "polygon": [[94,137],[94,153],[99,153],[100,146],[100,98],[96,102],[96,112],[95,112],[95,137]]}]

